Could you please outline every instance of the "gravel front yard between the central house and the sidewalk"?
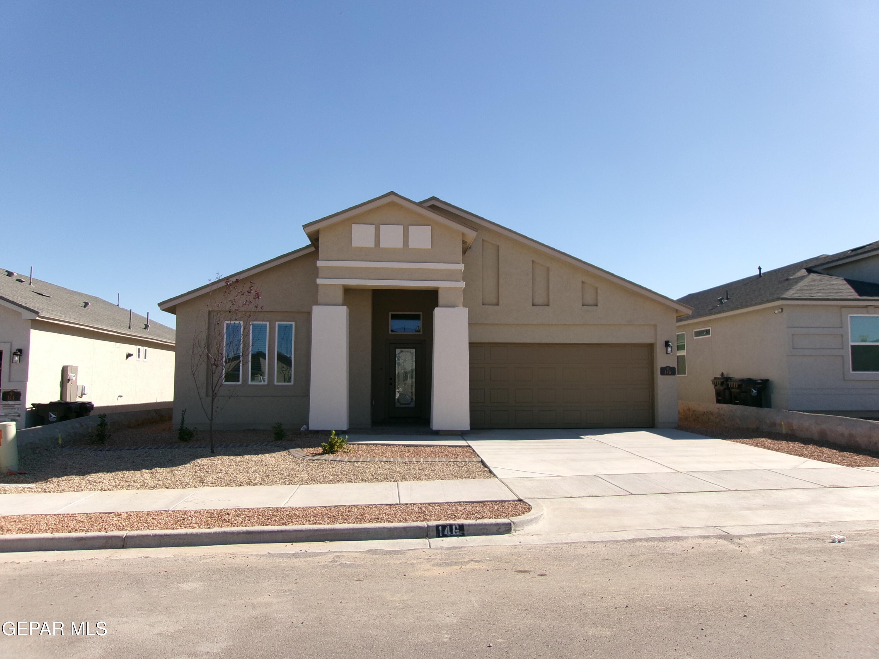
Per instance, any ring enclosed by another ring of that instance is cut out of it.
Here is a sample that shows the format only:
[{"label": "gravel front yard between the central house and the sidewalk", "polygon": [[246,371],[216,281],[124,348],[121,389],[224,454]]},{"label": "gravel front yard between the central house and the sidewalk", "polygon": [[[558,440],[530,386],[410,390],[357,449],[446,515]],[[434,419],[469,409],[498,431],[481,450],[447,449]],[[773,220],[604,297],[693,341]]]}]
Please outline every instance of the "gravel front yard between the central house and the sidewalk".
[{"label": "gravel front yard between the central house and the sidewalk", "polygon": [[[79,441],[25,456],[25,474],[0,475],[0,496],[20,492],[179,489],[237,485],[306,485],[342,482],[442,481],[493,478],[481,462],[337,462],[302,460],[288,453],[320,453],[329,432],[215,431],[216,453],[200,446],[207,432],[185,444],[171,422],[113,433],[105,445]],[[137,447],[148,448],[137,448]],[[469,446],[350,445],[340,453],[380,458],[478,458]],[[30,487],[17,488],[16,484]],[[12,487],[9,487],[12,486]]]}]

